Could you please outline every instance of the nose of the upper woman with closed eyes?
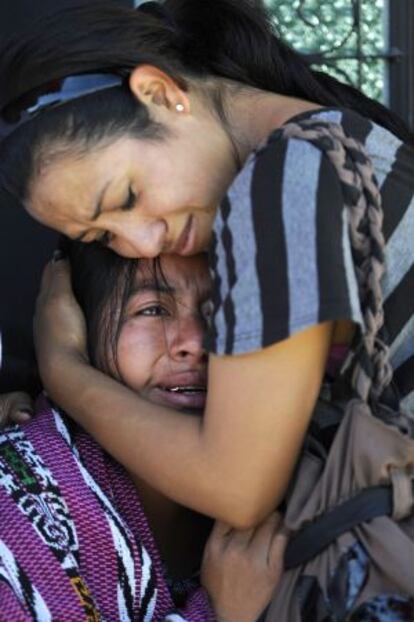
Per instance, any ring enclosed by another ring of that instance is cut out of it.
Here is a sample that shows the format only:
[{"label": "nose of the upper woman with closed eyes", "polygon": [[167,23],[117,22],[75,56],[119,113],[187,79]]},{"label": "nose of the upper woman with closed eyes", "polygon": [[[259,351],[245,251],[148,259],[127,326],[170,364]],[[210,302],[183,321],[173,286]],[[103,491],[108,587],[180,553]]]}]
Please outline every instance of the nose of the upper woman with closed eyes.
[{"label": "nose of the upper woman with closed eyes", "polygon": [[123,257],[152,259],[162,253],[167,238],[167,223],[164,220],[125,223],[117,231],[111,248]]}]

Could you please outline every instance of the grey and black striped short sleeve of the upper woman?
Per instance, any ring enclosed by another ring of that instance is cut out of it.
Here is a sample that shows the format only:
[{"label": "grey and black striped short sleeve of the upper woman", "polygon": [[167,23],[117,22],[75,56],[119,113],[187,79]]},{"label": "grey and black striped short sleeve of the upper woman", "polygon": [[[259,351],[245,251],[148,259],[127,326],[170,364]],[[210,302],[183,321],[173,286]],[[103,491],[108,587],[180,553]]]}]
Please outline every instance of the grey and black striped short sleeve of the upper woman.
[{"label": "grey and black striped short sleeve of the upper woman", "polygon": [[362,324],[347,209],[316,146],[276,132],[232,184],[210,252],[216,354],[262,349],[328,320]]}]

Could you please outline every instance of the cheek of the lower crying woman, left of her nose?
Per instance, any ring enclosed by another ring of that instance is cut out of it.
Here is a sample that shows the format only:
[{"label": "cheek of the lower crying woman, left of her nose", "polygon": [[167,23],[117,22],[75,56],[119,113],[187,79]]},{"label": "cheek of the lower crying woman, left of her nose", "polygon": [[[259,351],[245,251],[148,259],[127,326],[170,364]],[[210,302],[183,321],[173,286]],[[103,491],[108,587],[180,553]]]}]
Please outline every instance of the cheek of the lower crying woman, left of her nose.
[{"label": "cheek of the lower crying woman, left of her nose", "polygon": [[162,327],[150,327],[150,321],[147,326],[144,323],[142,318],[131,320],[122,328],[118,340],[119,371],[126,385],[135,391],[151,383],[157,362],[165,352]]}]

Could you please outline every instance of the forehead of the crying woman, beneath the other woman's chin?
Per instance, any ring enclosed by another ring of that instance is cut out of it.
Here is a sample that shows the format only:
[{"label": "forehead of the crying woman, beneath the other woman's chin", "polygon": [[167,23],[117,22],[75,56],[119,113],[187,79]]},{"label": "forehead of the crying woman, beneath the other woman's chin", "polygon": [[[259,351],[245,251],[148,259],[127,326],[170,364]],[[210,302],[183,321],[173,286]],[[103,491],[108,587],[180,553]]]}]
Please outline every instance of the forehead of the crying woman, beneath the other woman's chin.
[{"label": "forehead of the crying woman, beneath the other woman's chin", "polygon": [[168,285],[180,295],[196,293],[209,295],[211,278],[208,269],[207,254],[200,253],[192,257],[162,255],[158,263],[153,260],[139,260],[136,285],[143,283]]}]

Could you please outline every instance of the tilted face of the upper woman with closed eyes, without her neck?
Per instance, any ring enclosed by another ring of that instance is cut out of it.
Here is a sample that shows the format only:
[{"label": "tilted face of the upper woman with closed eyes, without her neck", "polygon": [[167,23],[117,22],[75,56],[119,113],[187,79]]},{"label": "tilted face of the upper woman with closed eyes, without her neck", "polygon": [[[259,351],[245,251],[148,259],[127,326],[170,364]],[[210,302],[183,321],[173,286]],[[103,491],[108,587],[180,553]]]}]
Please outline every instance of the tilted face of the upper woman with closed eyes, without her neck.
[{"label": "tilted face of the upper woman with closed eyes, without her neck", "polygon": [[[156,111],[163,117],[165,104],[159,103],[158,87],[153,88]],[[109,236],[108,246],[125,257],[205,250],[236,164],[225,132],[214,131],[212,115],[204,115],[200,127],[186,113],[189,105],[186,101],[183,113],[173,113],[162,141],[123,138],[81,158],[45,165],[31,184],[27,210],[71,238],[91,242]],[[98,203],[102,209],[96,218]],[[183,249],[180,236],[190,217],[191,245]]]}]

